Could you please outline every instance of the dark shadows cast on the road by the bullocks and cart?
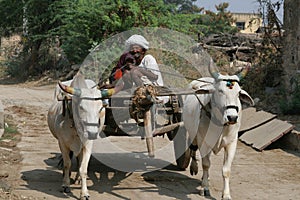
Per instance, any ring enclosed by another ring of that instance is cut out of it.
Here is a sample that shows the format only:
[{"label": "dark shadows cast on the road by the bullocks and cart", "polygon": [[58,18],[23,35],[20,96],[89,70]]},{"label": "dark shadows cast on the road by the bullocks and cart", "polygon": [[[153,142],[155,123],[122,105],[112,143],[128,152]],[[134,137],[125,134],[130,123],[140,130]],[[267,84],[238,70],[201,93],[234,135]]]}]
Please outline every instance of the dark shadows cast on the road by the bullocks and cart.
[{"label": "dark shadows cast on the road by the bullocks and cart", "polygon": [[[126,155],[111,155],[114,158],[123,157],[126,160]],[[127,155],[127,157],[130,157]],[[62,171],[58,170],[57,165],[61,159],[59,153],[53,153],[53,157],[49,157],[44,162],[47,164],[47,169],[34,169],[30,171],[22,172],[22,179],[26,182],[24,187],[29,190],[36,190],[47,195],[53,196],[53,198],[72,198],[78,199],[78,191],[80,190],[80,185],[71,184],[71,193],[65,194],[62,191]],[[159,162],[163,162],[159,160]],[[76,160],[72,161],[72,180],[74,183],[74,177],[76,175]],[[124,172],[111,168],[103,163],[101,163],[95,157],[91,157],[88,168],[89,181],[92,182],[88,184],[89,191],[95,191],[99,194],[108,194],[112,198],[117,199],[130,199],[127,195],[122,195],[120,190],[130,192],[130,190],[141,191],[141,193],[158,193],[159,195],[164,195],[172,197],[175,199],[190,199],[188,195],[196,194],[199,195],[200,191],[197,189],[200,186],[201,181],[199,179],[191,178],[187,175],[181,173],[182,170],[178,169],[176,165],[169,164],[163,169],[149,170],[145,172],[138,172],[141,174],[143,179],[141,183],[131,185],[130,187],[120,186],[122,181],[126,180],[133,175],[133,172]],[[135,174],[131,177],[135,179],[140,177]],[[143,184],[143,181],[150,183]],[[140,182],[140,180],[137,180]],[[124,185],[124,183],[122,183]],[[72,193],[76,191],[76,194]],[[214,199],[209,197],[207,199]]]}]

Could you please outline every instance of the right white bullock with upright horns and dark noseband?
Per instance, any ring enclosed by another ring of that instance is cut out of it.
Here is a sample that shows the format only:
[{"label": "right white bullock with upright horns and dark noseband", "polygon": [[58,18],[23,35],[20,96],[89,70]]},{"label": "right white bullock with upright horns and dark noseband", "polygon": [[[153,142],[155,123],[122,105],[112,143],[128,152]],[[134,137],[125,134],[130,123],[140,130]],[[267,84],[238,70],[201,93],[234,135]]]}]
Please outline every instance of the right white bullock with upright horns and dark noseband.
[{"label": "right white bullock with upright horns and dark noseband", "polygon": [[202,158],[202,182],[200,194],[210,196],[209,167],[210,154],[217,154],[224,148],[223,162],[223,199],[231,199],[229,177],[231,164],[235,155],[238,130],[241,122],[240,100],[253,105],[252,98],[241,89],[239,81],[249,66],[239,75],[222,75],[210,62],[210,73],[213,78],[206,77],[192,81],[190,87],[197,95],[186,97],[183,106],[183,121],[193,143],[191,145],[191,174],[198,173],[196,150],[199,148]]}]

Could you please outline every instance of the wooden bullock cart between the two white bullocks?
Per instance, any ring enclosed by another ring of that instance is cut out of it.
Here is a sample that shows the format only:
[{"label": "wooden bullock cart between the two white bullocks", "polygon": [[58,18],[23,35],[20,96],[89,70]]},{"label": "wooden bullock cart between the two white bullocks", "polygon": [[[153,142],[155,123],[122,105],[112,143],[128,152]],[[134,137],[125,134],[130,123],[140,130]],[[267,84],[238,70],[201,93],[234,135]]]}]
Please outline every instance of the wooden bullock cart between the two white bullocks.
[{"label": "wooden bullock cart between the two white bullocks", "polygon": [[106,106],[103,137],[140,136],[145,139],[149,157],[154,157],[153,137],[165,136],[173,142],[177,166],[188,167],[191,141],[182,121],[183,95],[194,90],[143,86],[121,91]]}]

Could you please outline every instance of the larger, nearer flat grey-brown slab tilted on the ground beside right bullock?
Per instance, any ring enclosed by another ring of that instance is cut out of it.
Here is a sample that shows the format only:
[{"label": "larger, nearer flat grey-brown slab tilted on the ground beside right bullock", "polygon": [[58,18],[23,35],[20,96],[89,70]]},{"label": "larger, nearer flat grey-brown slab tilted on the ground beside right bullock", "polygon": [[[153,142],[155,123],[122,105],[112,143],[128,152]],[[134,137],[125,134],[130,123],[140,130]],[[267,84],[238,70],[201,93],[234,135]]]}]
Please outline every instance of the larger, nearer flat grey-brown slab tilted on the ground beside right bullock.
[{"label": "larger, nearer flat grey-brown slab tilted on the ground beside right bullock", "polygon": [[255,129],[245,132],[239,139],[262,151],[271,143],[293,130],[294,126],[285,121],[273,119]]}]

